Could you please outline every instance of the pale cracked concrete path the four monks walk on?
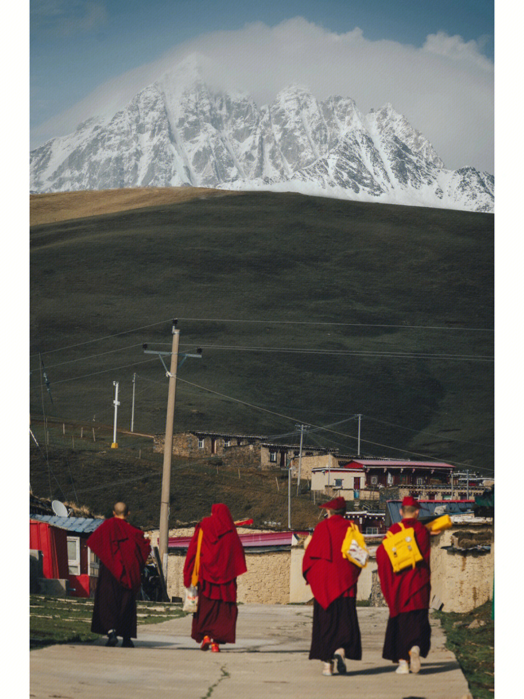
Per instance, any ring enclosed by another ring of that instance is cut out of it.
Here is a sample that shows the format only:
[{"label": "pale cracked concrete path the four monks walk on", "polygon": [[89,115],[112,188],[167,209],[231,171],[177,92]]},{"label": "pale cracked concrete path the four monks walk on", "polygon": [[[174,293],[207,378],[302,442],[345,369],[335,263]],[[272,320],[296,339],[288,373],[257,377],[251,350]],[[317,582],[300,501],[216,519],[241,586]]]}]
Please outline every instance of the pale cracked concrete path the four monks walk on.
[{"label": "pale cracked concrete path the four monks walk on", "polygon": [[310,661],[312,607],[240,605],[237,643],[203,653],[191,617],[138,627],[135,648],[56,645],[31,651],[31,697],[37,699],[463,699],[468,689],[444,633],[432,620],[431,651],[419,675],[396,675],[381,658],[387,611],[358,607],[363,659],[347,675],[321,675]]}]

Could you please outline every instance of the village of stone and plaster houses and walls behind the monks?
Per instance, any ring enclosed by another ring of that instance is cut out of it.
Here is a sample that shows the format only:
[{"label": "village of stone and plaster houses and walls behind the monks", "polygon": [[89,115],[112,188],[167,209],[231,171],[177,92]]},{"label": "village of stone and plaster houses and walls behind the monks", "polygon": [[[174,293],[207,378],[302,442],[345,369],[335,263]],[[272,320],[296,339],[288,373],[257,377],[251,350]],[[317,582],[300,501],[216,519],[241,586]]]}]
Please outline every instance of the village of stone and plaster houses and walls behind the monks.
[{"label": "village of stone and plaster houses and walls behind the monks", "polygon": [[[152,436],[153,452],[163,454],[164,442],[163,434]],[[359,582],[360,600],[384,605],[373,559],[374,549],[387,528],[400,520],[400,501],[406,495],[415,496],[421,502],[421,518],[425,521],[444,512],[449,513],[453,521],[453,527],[432,542],[435,609],[468,612],[493,596],[494,482],[473,471],[437,461],[362,458],[356,454],[340,454],[338,449],[312,446],[307,440],[301,447],[300,442],[293,440],[292,443],[277,443],[268,440],[266,435],[224,431],[175,433],[173,457],[184,459],[189,465],[194,463],[195,469],[204,462],[217,471],[238,473],[241,483],[242,475],[258,471],[261,477],[273,479],[279,495],[286,498],[288,494],[290,508],[293,492],[293,519],[298,493],[303,505],[310,508],[311,526],[306,528],[289,527],[282,510],[279,521],[273,517],[264,521],[251,520],[249,526],[239,527],[249,562],[247,575],[239,580],[241,601],[303,603],[310,600],[310,590],[301,575],[303,541],[318,521],[318,505],[337,496],[347,501],[346,517],[358,524],[372,555]],[[255,491],[254,496],[263,497],[263,494]],[[481,505],[486,504],[486,498],[491,498],[487,508]],[[242,503],[236,504],[241,511]],[[50,501],[31,497],[34,590],[60,596],[92,597],[98,562],[85,541],[102,519],[71,505],[59,514],[57,511],[54,503],[51,506]],[[198,519],[205,512],[195,514]],[[291,509],[289,514],[291,516]],[[44,533],[43,528],[50,531]],[[176,524],[173,517],[170,518],[165,586],[161,589],[157,584],[154,596],[172,601],[182,599],[181,566],[193,531],[194,524]],[[148,530],[148,535],[152,546],[157,546],[158,529]],[[38,550],[51,545],[51,541],[54,541],[56,552],[60,549],[64,552],[61,562],[58,555],[38,554]],[[50,558],[55,560],[52,566]],[[47,561],[46,568],[42,567],[43,561]],[[150,575],[157,575],[157,564],[153,557]]]}]

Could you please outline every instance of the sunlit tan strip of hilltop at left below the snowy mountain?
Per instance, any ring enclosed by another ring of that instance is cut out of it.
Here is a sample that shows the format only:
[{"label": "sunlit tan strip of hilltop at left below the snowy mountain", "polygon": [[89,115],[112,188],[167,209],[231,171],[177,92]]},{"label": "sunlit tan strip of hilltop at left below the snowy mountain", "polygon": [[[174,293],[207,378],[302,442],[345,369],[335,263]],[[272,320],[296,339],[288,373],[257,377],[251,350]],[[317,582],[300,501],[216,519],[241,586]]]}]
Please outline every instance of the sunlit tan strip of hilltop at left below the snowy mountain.
[{"label": "sunlit tan strip of hilltop at left below the snowy mountain", "polygon": [[182,203],[191,199],[239,194],[208,187],[134,187],[85,192],[52,192],[29,196],[31,226],[99,216],[129,209]]}]

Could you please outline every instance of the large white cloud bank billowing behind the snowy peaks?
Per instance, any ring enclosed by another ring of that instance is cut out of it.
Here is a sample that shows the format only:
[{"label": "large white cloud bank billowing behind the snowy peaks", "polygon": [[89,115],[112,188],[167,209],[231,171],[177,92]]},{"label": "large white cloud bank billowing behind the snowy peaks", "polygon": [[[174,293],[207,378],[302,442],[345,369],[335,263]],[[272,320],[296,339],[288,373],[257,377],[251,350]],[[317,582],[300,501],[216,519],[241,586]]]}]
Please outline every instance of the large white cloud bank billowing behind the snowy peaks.
[{"label": "large white cloud bank billowing behind the snowy peaks", "polygon": [[361,111],[391,102],[429,138],[447,167],[493,173],[493,63],[479,43],[438,32],[421,48],[370,41],[361,29],[335,34],[301,17],[276,27],[256,22],[215,31],[173,48],[158,61],[101,85],[71,110],[34,131],[49,138],[72,131],[95,113],[114,113],[191,52],[215,87],[235,88],[261,106],[292,83],[317,99],[349,96]]}]

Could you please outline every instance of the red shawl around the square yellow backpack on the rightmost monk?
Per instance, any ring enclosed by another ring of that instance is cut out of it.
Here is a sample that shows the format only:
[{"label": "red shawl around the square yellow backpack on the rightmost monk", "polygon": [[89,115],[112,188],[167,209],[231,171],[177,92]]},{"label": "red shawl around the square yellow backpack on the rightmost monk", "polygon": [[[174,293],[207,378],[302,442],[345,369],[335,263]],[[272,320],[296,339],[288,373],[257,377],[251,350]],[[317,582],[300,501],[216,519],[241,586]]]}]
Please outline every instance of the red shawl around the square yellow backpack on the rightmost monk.
[{"label": "red shawl around the square yellow backpack on the rightmost monk", "polygon": [[[405,527],[413,527],[416,543],[423,556],[415,568],[393,572],[389,556],[383,545],[377,549],[377,568],[384,599],[390,617],[403,612],[428,609],[430,606],[430,534],[417,519],[402,519]],[[388,531],[396,534],[400,524],[392,524]]]}]

